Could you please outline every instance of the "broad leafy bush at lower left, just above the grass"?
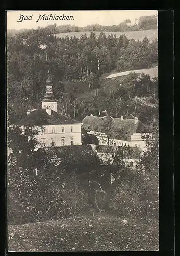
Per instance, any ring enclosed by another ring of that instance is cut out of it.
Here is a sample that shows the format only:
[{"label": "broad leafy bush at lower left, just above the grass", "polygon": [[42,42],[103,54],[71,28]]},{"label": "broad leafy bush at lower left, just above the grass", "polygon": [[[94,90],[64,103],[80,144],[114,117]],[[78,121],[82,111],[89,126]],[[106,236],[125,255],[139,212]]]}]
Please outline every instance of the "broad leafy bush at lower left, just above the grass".
[{"label": "broad leafy bush at lower left, just above the grass", "polygon": [[8,189],[9,225],[67,218],[88,208],[85,191],[73,175],[62,182],[47,183],[43,177],[28,177],[24,183],[13,182],[17,185]]}]

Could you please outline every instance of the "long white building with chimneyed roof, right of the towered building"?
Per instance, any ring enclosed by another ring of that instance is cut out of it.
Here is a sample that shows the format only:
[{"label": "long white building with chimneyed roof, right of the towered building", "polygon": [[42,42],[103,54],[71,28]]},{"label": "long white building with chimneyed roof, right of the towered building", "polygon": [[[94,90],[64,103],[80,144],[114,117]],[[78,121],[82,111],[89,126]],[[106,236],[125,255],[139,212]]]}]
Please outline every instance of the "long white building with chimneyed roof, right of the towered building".
[{"label": "long white building with chimneyed roof, right of the towered building", "polygon": [[112,118],[108,139],[106,134],[107,118],[107,116],[86,116],[82,120],[83,129],[87,131],[87,134],[96,136],[99,145],[131,146],[145,150],[146,145],[143,137],[144,133],[147,134],[150,131],[150,127],[144,125],[137,117],[134,119],[124,119],[123,116]]}]

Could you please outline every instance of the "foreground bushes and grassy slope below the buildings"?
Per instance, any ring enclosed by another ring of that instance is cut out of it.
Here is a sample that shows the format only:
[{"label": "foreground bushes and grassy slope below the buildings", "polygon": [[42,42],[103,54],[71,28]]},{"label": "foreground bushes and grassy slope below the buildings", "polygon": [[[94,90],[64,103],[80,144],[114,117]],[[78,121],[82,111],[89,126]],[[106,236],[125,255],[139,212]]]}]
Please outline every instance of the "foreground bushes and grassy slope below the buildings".
[{"label": "foreground bushes and grassy slope below the buildings", "polygon": [[33,151],[28,130],[18,134],[11,129],[9,250],[158,249],[157,130],[146,138],[148,151],[133,169],[123,158],[128,147],[119,147],[115,161],[106,166],[87,145],[65,147],[58,163],[51,149]]}]

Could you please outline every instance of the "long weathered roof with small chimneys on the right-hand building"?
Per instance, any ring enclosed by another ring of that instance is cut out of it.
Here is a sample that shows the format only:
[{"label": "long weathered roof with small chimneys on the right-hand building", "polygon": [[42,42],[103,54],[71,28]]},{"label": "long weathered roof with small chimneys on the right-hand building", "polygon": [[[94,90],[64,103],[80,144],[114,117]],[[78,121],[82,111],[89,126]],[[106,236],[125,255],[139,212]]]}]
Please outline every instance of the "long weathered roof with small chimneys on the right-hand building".
[{"label": "long weathered roof with small chimneys on the right-hand building", "polygon": [[[83,120],[82,128],[86,131],[95,131],[107,133],[108,117],[99,117],[99,116],[86,116]],[[141,121],[138,120],[134,124],[134,119],[123,119],[112,118],[112,125],[110,129],[112,139],[121,139],[121,140],[130,140],[130,136],[133,133],[143,133],[150,132],[151,128],[147,125],[144,125]]]}]

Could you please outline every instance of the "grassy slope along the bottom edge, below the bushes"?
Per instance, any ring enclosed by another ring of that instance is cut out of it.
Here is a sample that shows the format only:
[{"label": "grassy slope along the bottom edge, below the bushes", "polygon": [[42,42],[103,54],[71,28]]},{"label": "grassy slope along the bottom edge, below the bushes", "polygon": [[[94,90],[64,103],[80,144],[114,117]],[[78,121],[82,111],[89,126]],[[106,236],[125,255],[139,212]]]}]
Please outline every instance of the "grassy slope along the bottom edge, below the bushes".
[{"label": "grassy slope along the bottom edge, below the bushes", "polygon": [[158,250],[158,225],[108,214],[78,215],[8,228],[8,251]]}]

